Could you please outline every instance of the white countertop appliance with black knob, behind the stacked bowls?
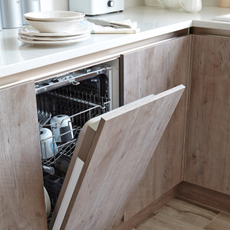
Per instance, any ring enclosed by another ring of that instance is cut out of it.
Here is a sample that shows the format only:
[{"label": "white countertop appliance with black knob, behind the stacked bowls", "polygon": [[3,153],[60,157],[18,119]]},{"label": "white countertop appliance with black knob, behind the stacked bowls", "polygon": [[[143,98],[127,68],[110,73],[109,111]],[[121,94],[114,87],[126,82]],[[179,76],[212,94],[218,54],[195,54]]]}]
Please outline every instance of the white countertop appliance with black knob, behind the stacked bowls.
[{"label": "white countertop appliance with black knob, behind the stacked bowls", "polygon": [[124,10],[124,0],[69,0],[69,10],[92,16],[119,12]]}]

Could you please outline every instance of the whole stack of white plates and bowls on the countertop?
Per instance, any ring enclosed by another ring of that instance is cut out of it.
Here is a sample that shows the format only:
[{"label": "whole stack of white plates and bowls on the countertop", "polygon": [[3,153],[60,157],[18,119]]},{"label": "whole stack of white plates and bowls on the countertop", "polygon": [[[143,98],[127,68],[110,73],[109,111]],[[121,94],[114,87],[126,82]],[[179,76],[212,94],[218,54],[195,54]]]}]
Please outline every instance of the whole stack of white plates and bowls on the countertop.
[{"label": "whole stack of white plates and bowls on the countertop", "polygon": [[62,45],[83,41],[90,30],[79,22],[84,14],[72,11],[42,11],[24,14],[29,26],[18,30],[18,39],[31,44]]}]

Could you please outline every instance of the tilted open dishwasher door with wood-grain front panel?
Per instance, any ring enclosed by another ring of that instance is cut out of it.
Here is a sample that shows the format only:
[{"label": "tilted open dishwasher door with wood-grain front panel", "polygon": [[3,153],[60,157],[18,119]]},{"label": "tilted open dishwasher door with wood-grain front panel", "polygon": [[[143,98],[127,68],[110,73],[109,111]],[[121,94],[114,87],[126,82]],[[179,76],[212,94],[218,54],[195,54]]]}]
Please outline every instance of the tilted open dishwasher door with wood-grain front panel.
[{"label": "tilted open dishwasher door with wood-grain front panel", "polygon": [[[120,223],[184,88],[150,95],[86,124],[50,229],[110,230]],[[84,165],[76,179],[78,157]]]}]

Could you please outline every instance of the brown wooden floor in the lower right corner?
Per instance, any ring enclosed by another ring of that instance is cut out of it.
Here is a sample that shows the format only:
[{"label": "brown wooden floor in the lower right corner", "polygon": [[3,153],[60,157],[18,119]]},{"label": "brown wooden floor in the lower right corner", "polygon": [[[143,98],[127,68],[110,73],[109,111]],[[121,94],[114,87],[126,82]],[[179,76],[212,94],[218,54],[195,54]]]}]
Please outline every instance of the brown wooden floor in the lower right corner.
[{"label": "brown wooden floor in the lower right corner", "polygon": [[174,198],[133,230],[230,230],[230,213]]}]

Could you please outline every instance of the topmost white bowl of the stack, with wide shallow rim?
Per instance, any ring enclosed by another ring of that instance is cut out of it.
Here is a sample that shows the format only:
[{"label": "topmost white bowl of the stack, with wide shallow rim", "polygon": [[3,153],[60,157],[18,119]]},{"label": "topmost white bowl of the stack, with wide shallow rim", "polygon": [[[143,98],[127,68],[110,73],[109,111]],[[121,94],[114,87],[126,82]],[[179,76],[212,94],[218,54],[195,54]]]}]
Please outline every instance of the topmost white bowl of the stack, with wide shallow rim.
[{"label": "topmost white bowl of the stack, with wide shallow rim", "polygon": [[84,18],[85,14],[73,11],[40,11],[29,12],[24,17],[33,21],[70,21]]}]

